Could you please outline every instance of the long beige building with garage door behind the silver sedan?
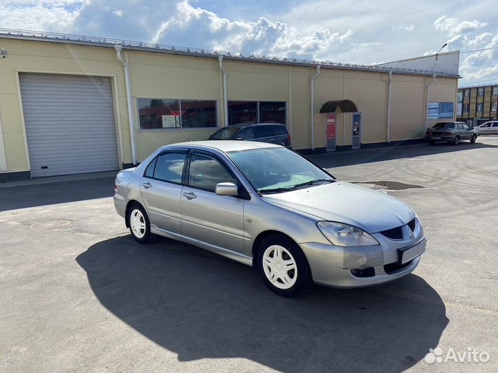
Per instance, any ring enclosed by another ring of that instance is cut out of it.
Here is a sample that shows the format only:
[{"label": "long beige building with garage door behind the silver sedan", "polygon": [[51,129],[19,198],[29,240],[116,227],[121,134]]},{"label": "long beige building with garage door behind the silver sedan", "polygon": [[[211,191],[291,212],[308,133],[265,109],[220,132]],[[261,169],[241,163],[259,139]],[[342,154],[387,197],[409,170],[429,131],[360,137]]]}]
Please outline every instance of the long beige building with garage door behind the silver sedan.
[{"label": "long beige building with garage door behind the silver sedan", "polygon": [[236,122],[284,122],[302,153],[417,141],[459,78],[66,35],[0,49],[0,181],[121,169]]}]

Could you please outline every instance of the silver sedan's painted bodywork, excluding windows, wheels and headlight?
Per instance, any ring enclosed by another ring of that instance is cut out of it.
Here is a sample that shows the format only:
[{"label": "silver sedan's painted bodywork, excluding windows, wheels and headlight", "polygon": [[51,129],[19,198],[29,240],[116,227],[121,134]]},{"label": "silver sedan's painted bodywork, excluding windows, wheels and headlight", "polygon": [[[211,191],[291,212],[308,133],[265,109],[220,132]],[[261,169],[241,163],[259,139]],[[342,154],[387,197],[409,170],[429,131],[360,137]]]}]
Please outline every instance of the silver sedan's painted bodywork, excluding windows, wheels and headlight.
[{"label": "silver sedan's painted bodywork, excluding windows, wheels and headlight", "polygon": [[[425,251],[425,237],[416,214],[407,204],[356,184],[338,181],[285,193],[260,195],[230,160],[230,151],[279,147],[241,141],[185,142],[163,146],[134,169],[120,171],[114,195],[116,211],[126,218],[127,206],[142,204],[151,232],[214,251],[246,265],[254,265],[259,238],[277,231],[292,238],[304,251],[313,281],[332,287],[364,287],[411,273]],[[188,185],[144,180],[149,162],[167,149],[197,149],[225,162],[248,192],[248,198],[216,195]],[[147,184],[149,183],[149,184]],[[196,198],[187,198],[194,193]],[[374,236],[380,245],[331,245],[317,222],[351,224]],[[414,224],[410,229],[408,222]],[[400,229],[403,238],[380,232]],[[404,253],[404,261],[400,261]],[[389,270],[387,270],[387,267]],[[357,277],[352,269],[374,267],[375,276]]]}]

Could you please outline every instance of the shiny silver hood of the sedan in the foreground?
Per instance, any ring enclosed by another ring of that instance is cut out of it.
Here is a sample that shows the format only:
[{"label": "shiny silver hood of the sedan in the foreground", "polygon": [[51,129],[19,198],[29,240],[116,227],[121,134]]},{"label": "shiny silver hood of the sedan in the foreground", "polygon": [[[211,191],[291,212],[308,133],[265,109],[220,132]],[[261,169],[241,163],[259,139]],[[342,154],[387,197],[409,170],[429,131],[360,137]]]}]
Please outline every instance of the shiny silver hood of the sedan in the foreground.
[{"label": "shiny silver hood of the sedan in the foreground", "polygon": [[323,220],[352,224],[369,233],[399,227],[415,217],[414,211],[397,198],[342,181],[263,198]]}]

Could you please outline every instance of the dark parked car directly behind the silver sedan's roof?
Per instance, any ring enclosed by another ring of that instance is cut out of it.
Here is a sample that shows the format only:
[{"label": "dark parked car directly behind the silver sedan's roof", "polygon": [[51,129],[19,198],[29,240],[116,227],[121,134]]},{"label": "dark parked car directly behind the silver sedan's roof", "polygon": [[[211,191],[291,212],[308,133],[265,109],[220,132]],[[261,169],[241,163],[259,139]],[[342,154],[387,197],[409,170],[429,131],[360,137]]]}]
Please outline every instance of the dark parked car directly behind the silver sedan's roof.
[{"label": "dark parked car directly behind the silver sedan's roof", "polygon": [[209,140],[244,140],[270,142],[291,149],[291,135],[284,124],[279,123],[241,123],[220,128]]}]

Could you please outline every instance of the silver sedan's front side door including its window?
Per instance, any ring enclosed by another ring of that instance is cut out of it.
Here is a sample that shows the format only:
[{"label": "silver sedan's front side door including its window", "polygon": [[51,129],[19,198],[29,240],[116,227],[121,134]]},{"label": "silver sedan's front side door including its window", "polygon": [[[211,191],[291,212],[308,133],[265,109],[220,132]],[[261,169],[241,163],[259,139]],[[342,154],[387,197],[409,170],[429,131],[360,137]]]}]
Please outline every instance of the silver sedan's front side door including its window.
[{"label": "silver sedan's front side door including its window", "polygon": [[181,195],[181,233],[210,245],[243,251],[243,198],[214,193],[216,184],[239,184],[212,153],[192,151]]}]

